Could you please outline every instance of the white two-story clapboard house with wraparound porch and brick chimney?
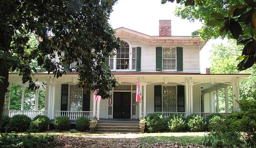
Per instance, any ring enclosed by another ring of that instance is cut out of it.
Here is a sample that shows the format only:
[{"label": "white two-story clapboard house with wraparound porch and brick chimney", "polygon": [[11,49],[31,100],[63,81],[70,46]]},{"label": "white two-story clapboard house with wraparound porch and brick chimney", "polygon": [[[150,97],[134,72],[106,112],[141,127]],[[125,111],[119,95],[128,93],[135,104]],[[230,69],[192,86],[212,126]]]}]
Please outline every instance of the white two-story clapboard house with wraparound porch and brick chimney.
[{"label": "white two-story clapboard house with wraparound porch and brick chimney", "polygon": [[[23,107],[13,111],[9,110],[7,103],[4,114],[26,114],[31,118],[44,114],[51,119],[60,115],[68,115],[70,119],[82,115],[90,118],[97,115],[100,119],[139,119],[153,112],[164,116],[174,113],[207,115],[219,110],[218,92],[223,88],[226,113],[229,110],[228,89],[233,93],[233,111],[239,111],[236,102],[239,100],[239,81],[249,74],[201,74],[200,56],[204,55],[200,55],[200,50],[205,43],[199,37],[172,36],[171,20],[159,20],[159,36],[121,27],[116,29],[116,37],[124,41],[124,47],[113,51],[116,56],[108,59],[115,78],[121,84],[113,88],[112,98],[100,103],[93,101],[92,93],[83,93],[77,88],[78,73],[75,72],[60,78],[36,73],[38,81],[47,84],[44,111],[23,111]],[[138,78],[140,103],[135,101]],[[9,74],[10,84],[20,81],[17,73]],[[24,95],[22,98],[24,103]],[[6,101],[10,102],[10,99],[6,98]]]}]

